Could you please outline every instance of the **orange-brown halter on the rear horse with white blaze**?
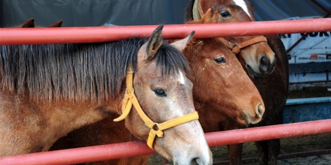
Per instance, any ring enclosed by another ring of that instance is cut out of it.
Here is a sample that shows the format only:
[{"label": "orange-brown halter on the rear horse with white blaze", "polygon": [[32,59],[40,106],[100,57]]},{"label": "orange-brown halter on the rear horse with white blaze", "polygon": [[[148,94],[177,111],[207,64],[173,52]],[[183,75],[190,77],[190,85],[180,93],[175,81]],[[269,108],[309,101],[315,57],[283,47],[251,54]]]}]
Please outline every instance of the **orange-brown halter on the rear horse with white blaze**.
[{"label": "orange-brown halter on the rear horse with white blaze", "polygon": [[[198,21],[200,20],[204,15],[204,11],[202,10],[200,0],[195,0],[193,4],[193,19]],[[232,43],[224,38],[218,38],[219,41],[221,41],[223,44],[225,44],[227,47],[231,48],[232,51],[236,54],[240,52],[241,48],[247,47],[249,45],[259,43],[259,42],[267,42],[267,38],[265,36],[258,36],[240,43]]]}]

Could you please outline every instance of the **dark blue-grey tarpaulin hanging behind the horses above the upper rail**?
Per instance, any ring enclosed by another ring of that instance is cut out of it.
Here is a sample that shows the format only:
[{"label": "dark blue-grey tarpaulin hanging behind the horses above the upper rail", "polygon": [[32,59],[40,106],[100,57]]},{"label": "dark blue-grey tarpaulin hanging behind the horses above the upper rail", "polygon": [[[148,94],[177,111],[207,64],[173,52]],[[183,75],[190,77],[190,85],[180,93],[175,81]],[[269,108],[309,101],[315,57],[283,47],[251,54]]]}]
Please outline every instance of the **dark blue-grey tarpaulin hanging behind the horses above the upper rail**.
[{"label": "dark blue-grey tarpaulin hanging behind the horses above the upper rail", "polygon": [[[63,26],[180,24],[189,0],[0,0],[1,26],[35,18],[48,26],[63,19]],[[251,0],[256,20],[325,15],[311,0]],[[331,0],[317,0],[331,10]]]}]

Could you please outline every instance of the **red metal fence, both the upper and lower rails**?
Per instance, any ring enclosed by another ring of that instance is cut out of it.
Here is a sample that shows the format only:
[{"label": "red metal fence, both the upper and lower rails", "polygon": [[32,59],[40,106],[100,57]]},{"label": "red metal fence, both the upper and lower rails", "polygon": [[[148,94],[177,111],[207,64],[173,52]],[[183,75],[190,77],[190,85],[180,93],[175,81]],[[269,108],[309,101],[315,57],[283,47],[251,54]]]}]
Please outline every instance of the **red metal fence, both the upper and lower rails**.
[{"label": "red metal fence, both the upper and lower rails", "polygon": [[[101,42],[147,37],[156,25],[62,28],[0,28],[0,44]],[[163,37],[197,38],[331,31],[331,18],[221,24],[164,25]],[[331,132],[331,119],[206,133],[210,146]],[[82,147],[0,157],[0,164],[72,164],[154,153],[144,142]]]}]

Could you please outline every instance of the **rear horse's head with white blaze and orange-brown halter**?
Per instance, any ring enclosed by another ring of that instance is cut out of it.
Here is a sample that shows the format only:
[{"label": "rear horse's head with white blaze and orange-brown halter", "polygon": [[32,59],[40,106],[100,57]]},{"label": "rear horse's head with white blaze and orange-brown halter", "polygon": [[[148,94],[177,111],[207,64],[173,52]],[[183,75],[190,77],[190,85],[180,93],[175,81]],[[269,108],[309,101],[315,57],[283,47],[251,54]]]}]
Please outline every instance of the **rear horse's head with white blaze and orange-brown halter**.
[{"label": "rear horse's head with white blaze and orange-brown halter", "polygon": [[[217,11],[218,23],[255,21],[254,7],[248,0],[195,0],[193,5],[194,20],[199,20],[208,13],[208,9]],[[273,72],[276,58],[264,36],[227,37],[225,39],[241,47],[238,58],[252,78],[259,78]],[[255,38],[255,39],[254,39]],[[256,39],[258,38],[258,39]],[[260,39],[263,38],[263,39]],[[248,41],[250,40],[250,41]],[[246,43],[259,40],[253,44]],[[245,41],[247,41],[245,43]]]}]

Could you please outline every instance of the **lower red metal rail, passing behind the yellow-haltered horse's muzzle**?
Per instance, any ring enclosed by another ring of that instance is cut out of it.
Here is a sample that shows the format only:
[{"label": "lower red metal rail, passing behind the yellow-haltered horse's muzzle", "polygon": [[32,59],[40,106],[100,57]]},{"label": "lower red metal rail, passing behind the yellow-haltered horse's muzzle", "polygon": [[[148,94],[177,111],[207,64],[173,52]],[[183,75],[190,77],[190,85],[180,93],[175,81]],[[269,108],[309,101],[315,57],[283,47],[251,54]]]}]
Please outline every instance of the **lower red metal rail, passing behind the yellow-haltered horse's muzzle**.
[{"label": "lower red metal rail, passing behind the yellow-haltered horse's muzzle", "polygon": [[[331,119],[206,133],[209,146],[331,132]],[[0,157],[0,164],[73,164],[152,154],[143,141]]]}]

